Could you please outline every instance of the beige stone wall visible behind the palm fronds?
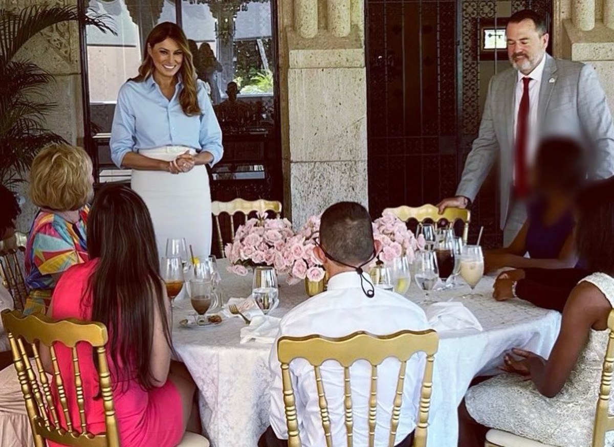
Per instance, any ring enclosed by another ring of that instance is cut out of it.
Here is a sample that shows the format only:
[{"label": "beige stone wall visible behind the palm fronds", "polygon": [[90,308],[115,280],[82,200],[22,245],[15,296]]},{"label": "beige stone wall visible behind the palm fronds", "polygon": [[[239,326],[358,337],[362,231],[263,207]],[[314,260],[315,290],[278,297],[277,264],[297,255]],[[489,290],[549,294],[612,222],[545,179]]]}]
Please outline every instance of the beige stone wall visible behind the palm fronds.
[{"label": "beige stone wall visible behind the palm fronds", "polygon": [[[53,0],[49,4],[76,4],[76,0]],[[41,4],[40,0],[0,0],[0,9],[21,9]],[[46,98],[57,104],[47,117],[47,128],[76,144],[83,134],[81,106],[81,81],[79,63],[79,34],[76,23],[63,23],[47,28],[33,37],[16,58],[29,59],[49,71],[55,82],[49,84]],[[22,184],[20,195],[27,198],[28,184]],[[29,229],[34,216],[34,206],[26,200],[22,205],[18,228]]]}]

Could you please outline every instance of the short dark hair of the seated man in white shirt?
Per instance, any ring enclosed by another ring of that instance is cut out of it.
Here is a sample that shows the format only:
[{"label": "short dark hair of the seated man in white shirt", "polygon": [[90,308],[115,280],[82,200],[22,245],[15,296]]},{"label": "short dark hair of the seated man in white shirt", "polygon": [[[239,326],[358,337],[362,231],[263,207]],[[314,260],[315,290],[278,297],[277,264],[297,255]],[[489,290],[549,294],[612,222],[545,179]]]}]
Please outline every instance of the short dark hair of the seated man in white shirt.
[{"label": "short dark hair of the seated man in white shirt", "polygon": [[373,224],[356,202],[329,206],[320,220],[320,243],[334,260],[359,266],[373,256]]}]

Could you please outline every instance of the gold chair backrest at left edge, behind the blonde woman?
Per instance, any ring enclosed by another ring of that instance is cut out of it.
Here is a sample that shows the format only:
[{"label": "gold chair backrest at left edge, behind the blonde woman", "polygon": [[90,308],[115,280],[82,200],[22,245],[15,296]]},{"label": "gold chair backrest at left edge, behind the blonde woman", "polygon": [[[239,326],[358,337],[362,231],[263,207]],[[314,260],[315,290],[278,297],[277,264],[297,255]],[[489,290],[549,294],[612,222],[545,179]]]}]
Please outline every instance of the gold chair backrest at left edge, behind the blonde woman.
[{"label": "gold chair backrest at left edge, behind the blonde woman", "polygon": [[9,290],[13,297],[15,309],[23,310],[28,289],[23,279],[23,272],[17,258],[17,252],[26,251],[28,236],[24,233],[15,232],[14,235],[0,241],[0,278],[2,286]]}]

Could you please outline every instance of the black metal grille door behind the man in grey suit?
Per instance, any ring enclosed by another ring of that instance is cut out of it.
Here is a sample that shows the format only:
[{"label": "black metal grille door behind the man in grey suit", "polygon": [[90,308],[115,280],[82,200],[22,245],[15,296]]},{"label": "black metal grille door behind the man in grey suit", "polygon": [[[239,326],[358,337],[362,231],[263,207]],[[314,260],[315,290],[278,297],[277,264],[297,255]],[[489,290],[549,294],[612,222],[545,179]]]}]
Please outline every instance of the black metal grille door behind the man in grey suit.
[{"label": "black metal grille door behind the man in grey suit", "polygon": [[[437,203],[456,191],[480,126],[480,23],[496,0],[367,0],[369,204]],[[550,17],[551,2],[514,0]],[[499,59],[501,61],[501,59]],[[505,59],[503,59],[505,61]],[[488,61],[494,64],[497,60]],[[500,66],[501,64],[499,64]],[[507,65],[503,64],[505,68]],[[484,244],[500,244],[495,182],[473,207]],[[479,230],[472,226],[472,233]],[[473,234],[475,237],[475,233]]]}]

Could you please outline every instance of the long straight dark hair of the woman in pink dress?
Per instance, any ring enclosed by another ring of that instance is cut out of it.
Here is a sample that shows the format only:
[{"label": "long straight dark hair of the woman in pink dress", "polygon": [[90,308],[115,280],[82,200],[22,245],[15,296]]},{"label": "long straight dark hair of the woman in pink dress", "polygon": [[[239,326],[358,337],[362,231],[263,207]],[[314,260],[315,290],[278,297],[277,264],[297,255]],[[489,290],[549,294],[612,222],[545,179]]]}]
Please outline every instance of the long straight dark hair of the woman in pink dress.
[{"label": "long straight dark hair of the woman in pink dress", "polygon": [[142,198],[123,185],[101,189],[88,216],[87,247],[90,259],[98,258],[88,283],[91,319],[109,330],[112,372],[126,379],[128,371],[122,368],[134,365],[138,383],[152,389],[149,359],[155,308],[166,342],[172,344],[153,224]]}]

